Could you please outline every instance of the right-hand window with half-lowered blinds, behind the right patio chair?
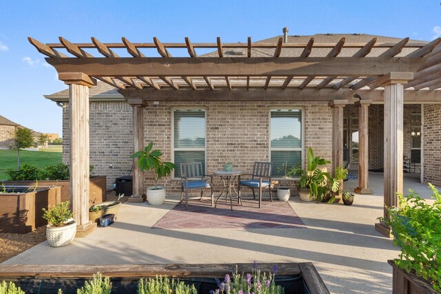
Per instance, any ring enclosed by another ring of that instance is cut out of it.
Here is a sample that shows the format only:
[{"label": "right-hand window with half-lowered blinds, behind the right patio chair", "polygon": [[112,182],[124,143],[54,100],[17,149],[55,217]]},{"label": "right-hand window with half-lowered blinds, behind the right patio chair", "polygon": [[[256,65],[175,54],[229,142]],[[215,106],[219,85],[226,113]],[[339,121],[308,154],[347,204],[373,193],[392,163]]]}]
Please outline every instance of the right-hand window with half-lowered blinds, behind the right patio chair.
[{"label": "right-hand window with half-lowered blinds, behind the right patio chair", "polygon": [[269,125],[272,176],[281,178],[283,165],[296,167],[302,162],[302,110],[271,109]]}]

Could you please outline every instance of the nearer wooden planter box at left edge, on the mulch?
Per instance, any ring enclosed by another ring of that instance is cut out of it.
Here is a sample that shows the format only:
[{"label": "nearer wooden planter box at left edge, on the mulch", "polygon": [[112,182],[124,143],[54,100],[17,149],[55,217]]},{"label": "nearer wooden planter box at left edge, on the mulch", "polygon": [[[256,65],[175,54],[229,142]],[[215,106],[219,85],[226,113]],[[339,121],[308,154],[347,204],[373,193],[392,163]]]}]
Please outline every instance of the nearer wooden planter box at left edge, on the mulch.
[{"label": "nearer wooden planter box at left edge, on the mulch", "polygon": [[61,202],[61,187],[39,187],[35,191],[26,191],[29,187],[5,188],[10,193],[0,193],[1,233],[29,233],[48,224],[41,209]]}]

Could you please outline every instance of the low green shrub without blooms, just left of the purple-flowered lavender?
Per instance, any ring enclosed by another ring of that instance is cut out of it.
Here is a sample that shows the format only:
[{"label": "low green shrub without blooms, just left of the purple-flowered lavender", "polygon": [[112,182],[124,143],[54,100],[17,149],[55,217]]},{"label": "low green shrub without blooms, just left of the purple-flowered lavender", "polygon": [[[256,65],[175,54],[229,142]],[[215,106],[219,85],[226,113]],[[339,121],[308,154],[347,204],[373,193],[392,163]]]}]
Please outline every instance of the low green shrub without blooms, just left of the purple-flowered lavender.
[{"label": "low green shrub without blooms, just left of the purple-flowered lavender", "polygon": [[168,277],[141,279],[138,284],[139,294],[197,294],[194,285],[188,286]]}]

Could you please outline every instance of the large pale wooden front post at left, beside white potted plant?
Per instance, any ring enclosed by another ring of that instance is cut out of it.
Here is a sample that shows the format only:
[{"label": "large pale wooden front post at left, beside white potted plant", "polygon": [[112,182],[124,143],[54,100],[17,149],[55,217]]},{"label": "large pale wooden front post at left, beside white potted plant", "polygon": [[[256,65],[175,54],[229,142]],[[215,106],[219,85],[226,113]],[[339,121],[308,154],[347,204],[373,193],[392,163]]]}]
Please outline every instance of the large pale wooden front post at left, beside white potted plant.
[{"label": "large pale wooden front post at left, beside white potted plant", "polygon": [[75,237],[96,229],[89,220],[89,87],[96,81],[83,73],[59,74],[69,85],[70,111],[70,200],[76,220]]}]

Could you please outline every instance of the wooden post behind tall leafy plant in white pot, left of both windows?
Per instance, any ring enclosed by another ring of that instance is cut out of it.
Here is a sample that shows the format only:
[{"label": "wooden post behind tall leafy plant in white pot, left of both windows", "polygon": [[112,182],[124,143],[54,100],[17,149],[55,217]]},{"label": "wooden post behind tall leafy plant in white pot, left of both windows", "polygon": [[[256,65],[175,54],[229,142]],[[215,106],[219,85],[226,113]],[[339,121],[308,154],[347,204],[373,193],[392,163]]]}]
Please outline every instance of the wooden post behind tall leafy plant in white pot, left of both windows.
[{"label": "wooden post behind tall leafy plant in white pot, left of both windows", "polygon": [[[142,100],[130,99],[127,101],[133,109],[133,153],[144,148],[144,107]],[[144,202],[143,198],[143,172],[139,169],[138,158],[133,158],[132,196],[129,202]]]}]

